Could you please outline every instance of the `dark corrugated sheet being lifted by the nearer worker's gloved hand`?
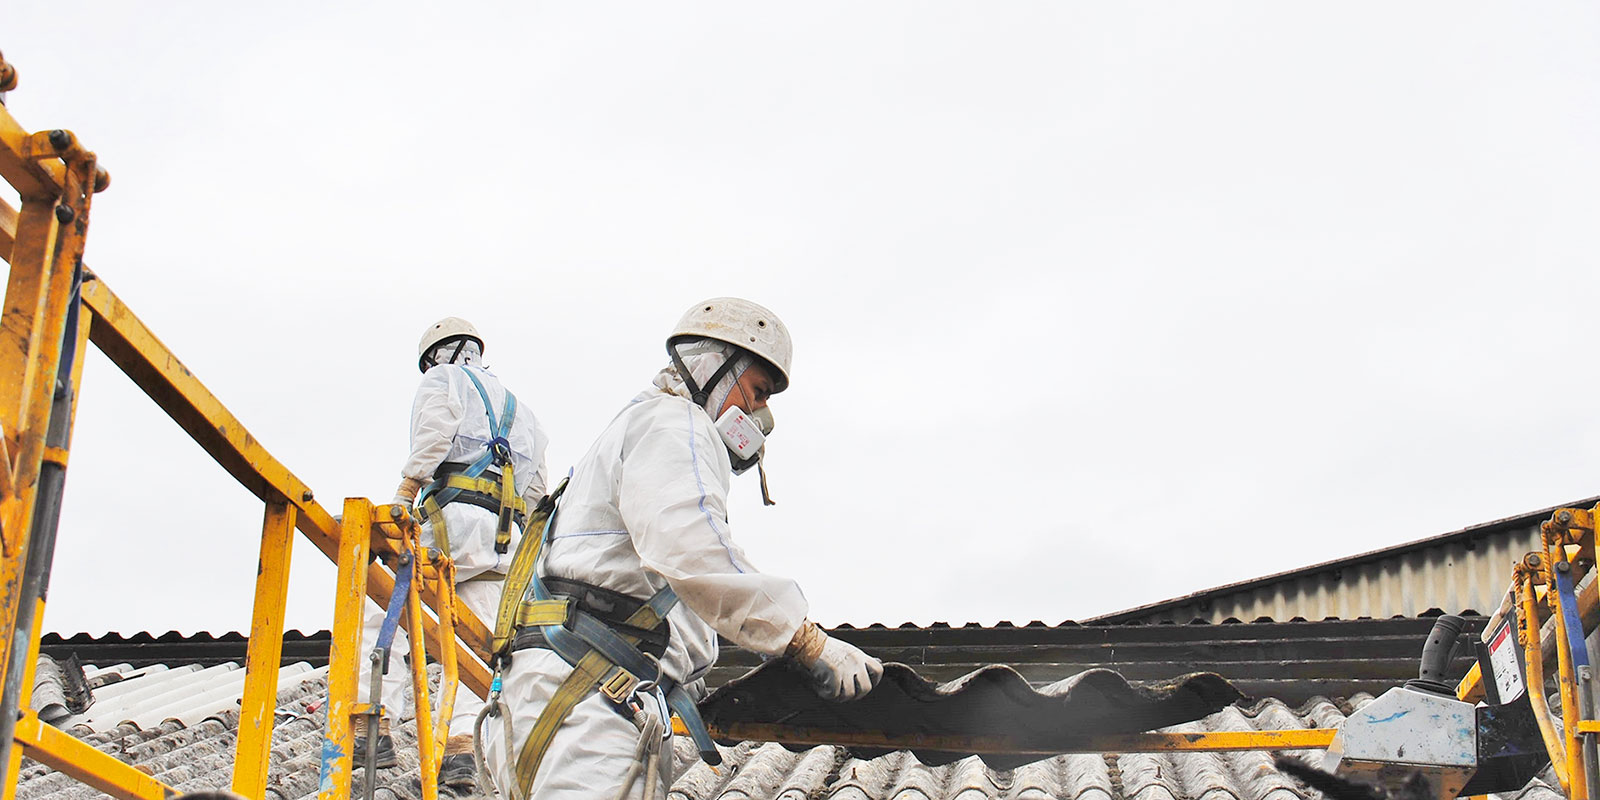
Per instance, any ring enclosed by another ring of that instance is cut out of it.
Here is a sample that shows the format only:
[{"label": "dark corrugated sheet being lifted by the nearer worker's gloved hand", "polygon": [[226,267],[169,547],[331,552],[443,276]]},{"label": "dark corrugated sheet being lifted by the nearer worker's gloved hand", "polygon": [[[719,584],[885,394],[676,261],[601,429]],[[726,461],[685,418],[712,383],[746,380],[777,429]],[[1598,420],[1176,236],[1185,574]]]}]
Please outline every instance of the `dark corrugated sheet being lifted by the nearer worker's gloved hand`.
[{"label": "dark corrugated sheet being lifted by the nearer worker's gloved hand", "polygon": [[933,683],[891,662],[867,696],[830,702],[797,667],[773,661],[718,688],[699,709],[712,733],[728,741],[838,744],[858,758],[909,749],[930,766],[976,754],[1010,770],[1069,752],[1086,736],[1192,722],[1238,699],[1243,694],[1211,672],[1130,683],[1115,670],[1091,669],[1035,690],[1005,666]]}]

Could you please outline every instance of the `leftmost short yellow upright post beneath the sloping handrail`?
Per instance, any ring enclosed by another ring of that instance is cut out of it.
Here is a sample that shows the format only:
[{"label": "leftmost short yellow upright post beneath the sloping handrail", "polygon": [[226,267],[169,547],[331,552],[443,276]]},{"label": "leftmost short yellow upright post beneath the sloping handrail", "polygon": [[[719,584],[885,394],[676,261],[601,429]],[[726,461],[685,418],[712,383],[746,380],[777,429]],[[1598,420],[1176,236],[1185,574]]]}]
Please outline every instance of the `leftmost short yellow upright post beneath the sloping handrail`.
[{"label": "leftmost short yellow upright post beneath the sloping handrail", "polygon": [[283,605],[290,590],[294,506],[267,502],[256,562],[256,608],[250,621],[245,696],[238,709],[234,792],[264,797],[272,757],[272,722],[278,707],[278,662],[283,659]]}]

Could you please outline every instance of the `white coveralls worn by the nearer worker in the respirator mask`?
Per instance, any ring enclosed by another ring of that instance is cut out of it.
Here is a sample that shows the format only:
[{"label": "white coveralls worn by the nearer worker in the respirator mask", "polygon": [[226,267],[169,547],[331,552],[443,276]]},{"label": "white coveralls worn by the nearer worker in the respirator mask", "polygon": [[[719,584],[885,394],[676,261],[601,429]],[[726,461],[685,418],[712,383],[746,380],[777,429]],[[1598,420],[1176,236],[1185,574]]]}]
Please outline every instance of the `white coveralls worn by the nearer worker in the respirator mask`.
[{"label": "white coveralls worn by the nearer worker in the respirator mask", "polygon": [[[702,355],[690,370],[704,381],[720,363],[722,354]],[[806,618],[806,598],[794,581],[757,571],[733,541],[730,478],[728,450],[710,416],[690,402],[674,370],[662,370],[656,387],[635,397],[578,462],[541,574],[640,600],[670,584],[680,603],[667,614],[670,638],[661,666],[678,683],[699,680],[715,664],[717,634],[781,656]],[[522,742],[570,672],[554,651],[514,653],[502,675],[514,741],[507,747],[499,722],[483,725],[485,757],[501,797],[512,797]],[[533,797],[614,797],[637,742],[638,728],[590,693],[557,730]],[[664,758],[670,760],[670,746]],[[634,797],[643,790],[640,778]],[[658,797],[666,797],[664,787]]]}]

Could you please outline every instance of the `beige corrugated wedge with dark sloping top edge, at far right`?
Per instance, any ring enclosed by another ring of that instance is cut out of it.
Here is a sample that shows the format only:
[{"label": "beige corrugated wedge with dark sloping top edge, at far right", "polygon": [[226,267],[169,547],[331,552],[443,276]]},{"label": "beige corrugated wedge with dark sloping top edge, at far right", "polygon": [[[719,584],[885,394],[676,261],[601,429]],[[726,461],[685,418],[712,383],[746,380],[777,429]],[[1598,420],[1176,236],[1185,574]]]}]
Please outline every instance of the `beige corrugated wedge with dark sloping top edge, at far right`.
[{"label": "beige corrugated wedge with dark sloping top edge, at far right", "polygon": [[1539,523],[1555,509],[1589,509],[1600,498],[1539,509],[1426,539],[1128,608],[1086,622],[1190,619],[1418,616],[1429,610],[1493,613],[1510,566],[1541,550]]}]

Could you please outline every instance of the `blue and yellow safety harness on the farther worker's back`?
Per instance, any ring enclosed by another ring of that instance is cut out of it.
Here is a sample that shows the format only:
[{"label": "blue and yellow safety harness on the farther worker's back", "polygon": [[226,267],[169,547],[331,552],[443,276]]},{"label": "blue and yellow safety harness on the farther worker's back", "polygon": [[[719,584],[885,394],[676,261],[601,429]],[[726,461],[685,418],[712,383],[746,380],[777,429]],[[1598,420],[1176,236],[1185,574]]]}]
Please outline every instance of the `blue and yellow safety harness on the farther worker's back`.
[{"label": "blue and yellow safety harness on the farther worker's back", "polygon": [[[450,531],[445,525],[445,506],[451,502],[469,502],[499,515],[494,526],[494,552],[504,555],[510,549],[510,526],[526,523],[528,504],[517,494],[517,480],[510,461],[510,424],[517,418],[517,395],[506,392],[506,405],[499,418],[494,416],[494,405],[490,403],[490,392],[483,389],[483,381],[472,374],[472,368],[462,365],[462,373],[477,387],[483,398],[483,413],[490,418],[490,442],[483,446],[483,454],[470,464],[445,462],[434,474],[434,482],[422,488],[418,496],[418,507],[434,526],[434,544],[450,552]],[[493,466],[499,470],[498,478],[483,477]]]}]

